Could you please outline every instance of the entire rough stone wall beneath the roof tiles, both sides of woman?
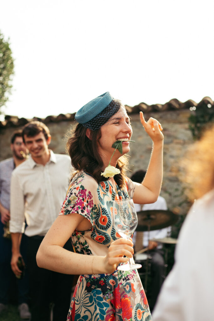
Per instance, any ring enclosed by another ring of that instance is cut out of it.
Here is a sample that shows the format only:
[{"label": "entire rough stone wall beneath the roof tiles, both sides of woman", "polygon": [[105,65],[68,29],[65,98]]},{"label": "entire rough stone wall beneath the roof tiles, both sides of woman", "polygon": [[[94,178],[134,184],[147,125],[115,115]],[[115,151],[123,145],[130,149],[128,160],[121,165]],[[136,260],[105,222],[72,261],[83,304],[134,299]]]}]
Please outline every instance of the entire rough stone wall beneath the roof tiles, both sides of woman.
[{"label": "entire rough stone wall beneath the roof tiles, both sides of woman", "polygon": [[[131,116],[133,127],[132,140],[135,143],[130,143],[131,151],[129,155],[132,172],[129,173],[129,176],[138,169],[147,169],[152,147],[152,141],[140,123],[139,114]],[[190,110],[179,109],[151,112],[145,113],[144,116],[146,120],[149,117],[157,118],[164,128],[164,178],[161,195],[165,197],[169,210],[179,214],[186,214],[190,205],[184,195],[184,186],[179,181],[179,161],[184,156],[188,146],[193,143],[188,123]],[[68,121],[47,123],[52,135],[50,148],[55,153],[65,152],[65,134],[73,125],[74,123]],[[9,147],[10,136],[13,130],[19,128],[21,127],[1,128],[0,160],[12,156]]]}]

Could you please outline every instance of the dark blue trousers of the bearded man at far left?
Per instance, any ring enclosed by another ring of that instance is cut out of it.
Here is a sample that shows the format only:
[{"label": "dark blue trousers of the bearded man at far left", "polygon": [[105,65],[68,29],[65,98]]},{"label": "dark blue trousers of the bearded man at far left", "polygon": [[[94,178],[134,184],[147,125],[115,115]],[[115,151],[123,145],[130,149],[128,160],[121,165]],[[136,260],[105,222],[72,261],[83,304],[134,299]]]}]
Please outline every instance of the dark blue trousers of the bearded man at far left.
[{"label": "dark blue trousers of the bearded man at far left", "polygon": [[[29,282],[28,273],[22,280],[15,277],[10,265],[11,247],[10,239],[3,238],[3,223],[0,221],[0,303],[8,304],[10,300],[18,300],[18,304],[28,303]],[[26,237],[23,235],[21,239],[21,255],[26,262]],[[14,289],[17,293],[13,293]]]}]

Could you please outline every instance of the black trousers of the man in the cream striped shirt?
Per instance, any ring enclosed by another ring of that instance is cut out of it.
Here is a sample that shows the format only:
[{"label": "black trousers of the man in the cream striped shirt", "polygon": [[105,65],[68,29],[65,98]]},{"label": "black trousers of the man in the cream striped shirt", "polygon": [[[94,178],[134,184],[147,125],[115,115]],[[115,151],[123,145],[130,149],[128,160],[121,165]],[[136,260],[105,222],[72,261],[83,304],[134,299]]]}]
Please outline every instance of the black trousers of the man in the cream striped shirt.
[{"label": "black trousers of the man in the cream striped shirt", "polygon": [[[28,269],[31,296],[31,321],[49,321],[50,303],[54,303],[53,321],[65,321],[68,315],[73,275],[39,268],[36,254],[43,237],[28,237]],[[64,248],[73,251],[68,240]]]}]

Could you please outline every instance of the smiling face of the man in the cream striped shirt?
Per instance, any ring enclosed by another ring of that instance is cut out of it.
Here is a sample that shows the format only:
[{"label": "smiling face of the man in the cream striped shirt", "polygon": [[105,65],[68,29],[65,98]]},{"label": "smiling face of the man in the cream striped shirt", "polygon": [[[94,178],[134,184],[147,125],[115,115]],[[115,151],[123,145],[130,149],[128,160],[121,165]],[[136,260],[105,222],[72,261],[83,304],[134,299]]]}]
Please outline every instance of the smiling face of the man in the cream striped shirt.
[{"label": "smiling face of the man in the cream striped shirt", "polygon": [[24,140],[25,146],[28,148],[33,159],[49,154],[48,145],[51,140],[50,136],[46,140],[45,135],[40,132],[33,137],[27,137],[27,135],[24,135]]}]

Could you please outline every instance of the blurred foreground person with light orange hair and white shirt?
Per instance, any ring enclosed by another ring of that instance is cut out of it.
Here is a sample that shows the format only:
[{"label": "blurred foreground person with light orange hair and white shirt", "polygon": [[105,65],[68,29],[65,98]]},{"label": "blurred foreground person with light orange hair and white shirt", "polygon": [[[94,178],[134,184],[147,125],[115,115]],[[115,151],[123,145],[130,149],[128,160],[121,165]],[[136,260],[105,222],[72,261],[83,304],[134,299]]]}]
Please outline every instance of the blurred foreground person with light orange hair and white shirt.
[{"label": "blurred foreground person with light orange hair and white shirt", "polygon": [[[184,160],[194,202],[179,234],[175,265],[153,313],[154,321],[214,320],[214,126]],[[191,193],[191,194],[190,194]]]}]

